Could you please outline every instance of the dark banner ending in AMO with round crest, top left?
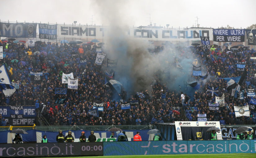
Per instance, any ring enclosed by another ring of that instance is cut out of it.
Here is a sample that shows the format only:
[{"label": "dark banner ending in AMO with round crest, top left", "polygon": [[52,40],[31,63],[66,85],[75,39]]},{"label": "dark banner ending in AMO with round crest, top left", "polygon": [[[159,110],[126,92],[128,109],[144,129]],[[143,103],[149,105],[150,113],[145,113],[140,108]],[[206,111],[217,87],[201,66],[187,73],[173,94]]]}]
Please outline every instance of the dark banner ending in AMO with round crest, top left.
[{"label": "dark banner ending in AMO with round crest, top left", "polygon": [[0,23],[1,37],[36,37],[37,23]]}]

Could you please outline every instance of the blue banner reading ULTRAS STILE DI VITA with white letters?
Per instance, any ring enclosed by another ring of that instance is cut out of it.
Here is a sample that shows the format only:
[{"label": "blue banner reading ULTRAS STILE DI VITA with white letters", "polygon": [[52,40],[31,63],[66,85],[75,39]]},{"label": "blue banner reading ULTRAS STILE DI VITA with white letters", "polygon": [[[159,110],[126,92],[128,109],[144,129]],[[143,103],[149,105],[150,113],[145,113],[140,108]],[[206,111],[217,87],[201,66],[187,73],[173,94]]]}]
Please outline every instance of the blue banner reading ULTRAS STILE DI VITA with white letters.
[{"label": "blue banner reading ULTRAS STILE DI VITA with white letters", "polygon": [[57,24],[38,24],[39,38],[55,40],[57,38]]}]

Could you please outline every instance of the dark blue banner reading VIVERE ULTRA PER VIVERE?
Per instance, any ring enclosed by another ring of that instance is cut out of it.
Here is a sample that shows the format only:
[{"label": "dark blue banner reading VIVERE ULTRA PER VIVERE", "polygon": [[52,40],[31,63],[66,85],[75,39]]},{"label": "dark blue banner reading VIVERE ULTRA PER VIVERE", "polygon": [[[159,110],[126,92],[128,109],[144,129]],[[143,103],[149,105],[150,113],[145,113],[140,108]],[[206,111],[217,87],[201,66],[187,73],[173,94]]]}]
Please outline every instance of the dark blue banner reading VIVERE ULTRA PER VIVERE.
[{"label": "dark blue banner reading VIVERE ULTRA PER VIVERE", "polygon": [[245,42],[245,29],[213,29],[215,42]]}]

